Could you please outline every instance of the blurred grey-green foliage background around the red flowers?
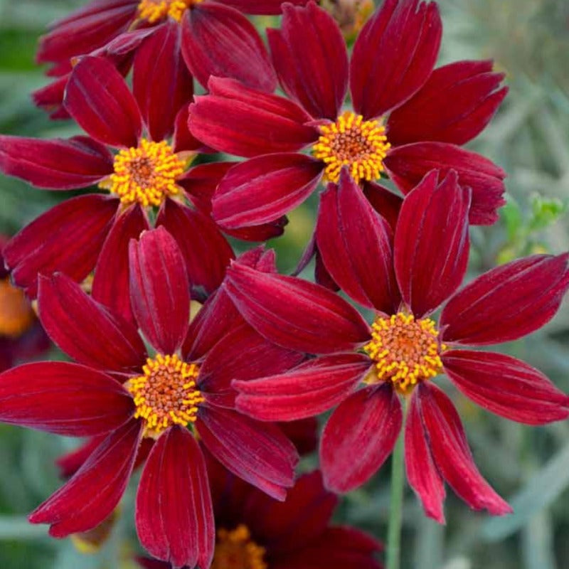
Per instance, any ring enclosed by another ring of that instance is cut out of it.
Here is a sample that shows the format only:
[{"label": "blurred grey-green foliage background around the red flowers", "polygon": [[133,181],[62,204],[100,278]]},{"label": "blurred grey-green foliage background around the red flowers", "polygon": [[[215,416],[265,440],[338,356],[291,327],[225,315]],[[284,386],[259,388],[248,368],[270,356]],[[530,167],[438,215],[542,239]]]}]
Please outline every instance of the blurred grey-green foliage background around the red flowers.
[{"label": "blurred grey-green foliage background around the red flowers", "polygon": [[[78,0],[0,0],[0,132],[66,136],[73,125],[53,123],[31,104],[46,83],[33,63],[37,37]],[[440,61],[494,58],[511,92],[499,115],[470,147],[509,174],[508,205],[492,228],[474,228],[471,274],[530,252],[569,248],[569,1],[441,0],[445,34]],[[0,179],[0,233],[14,233],[63,193],[37,191]],[[272,243],[280,267],[294,267],[314,220],[313,199],[291,216]],[[496,319],[499,314],[496,314]],[[504,349],[525,359],[569,392],[569,307],[545,329]],[[443,383],[445,389],[447,382]],[[452,394],[479,469],[511,501],[515,514],[491,519],[469,511],[452,491],[447,526],[422,515],[405,494],[403,568],[565,569],[569,567],[569,424],[525,427],[495,418]],[[110,540],[95,555],[70,540],[54,541],[26,514],[58,487],[53,459],[73,440],[0,425],[0,569],[129,568],[137,551],[132,490]],[[311,461],[309,460],[309,464]],[[308,464],[308,465],[309,465]],[[314,464],[314,462],[312,462]],[[346,497],[337,514],[384,538],[389,507],[388,466]],[[349,569],[349,568],[346,568]]]}]

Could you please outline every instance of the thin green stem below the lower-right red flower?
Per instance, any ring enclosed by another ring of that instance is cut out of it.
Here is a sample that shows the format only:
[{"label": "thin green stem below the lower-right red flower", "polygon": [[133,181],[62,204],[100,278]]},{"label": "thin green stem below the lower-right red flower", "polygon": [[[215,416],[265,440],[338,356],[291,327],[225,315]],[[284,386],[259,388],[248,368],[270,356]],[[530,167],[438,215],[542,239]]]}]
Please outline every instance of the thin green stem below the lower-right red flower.
[{"label": "thin green stem below the lower-right red flower", "polygon": [[[407,403],[406,400],[405,403]],[[387,533],[387,565],[385,565],[385,569],[399,569],[401,565],[401,522],[403,514],[403,486],[405,484],[403,440],[405,437],[406,414],[405,412],[403,413],[403,425],[391,455],[391,499]]]}]

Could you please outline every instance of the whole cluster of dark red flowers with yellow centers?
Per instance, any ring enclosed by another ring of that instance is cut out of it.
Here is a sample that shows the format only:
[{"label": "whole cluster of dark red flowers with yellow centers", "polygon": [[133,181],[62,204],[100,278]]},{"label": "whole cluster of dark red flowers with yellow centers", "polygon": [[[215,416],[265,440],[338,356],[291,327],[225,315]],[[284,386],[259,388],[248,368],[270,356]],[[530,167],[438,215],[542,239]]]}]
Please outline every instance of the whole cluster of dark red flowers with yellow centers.
[{"label": "whole cluster of dark red flowers with yellow centers", "polygon": [[[279,23],[270,51],[255,14]],[[332,14],[314,0],[92,0],[41,38],[55,79],[34,100],[85,134],[0,135],[0,170],[89,189],[2,249],[0,420],[87,437],[30,515],[52,536],[108,523],[140,468],[143,567],[378,569],[380,544],[329,520],[334,493],[367,482],[400,436],[427,516],[444,521],[445,482],[473,509],[511,511],[441,376],[511,420],[569,416],[543,373],[479,349],[553,317],[569,254],[463,285],[470,225],[496,222],[505,178],[463,145],[504,75],[435,68],[435,2],[358,11],[351,51]],[[310,282],[245,245],[282,235],[314,191],[297,271],[314,260]],[[34,355],[33,329],[70,361],[11,368]],[[296,479],[329,410],[321,472]]]}]

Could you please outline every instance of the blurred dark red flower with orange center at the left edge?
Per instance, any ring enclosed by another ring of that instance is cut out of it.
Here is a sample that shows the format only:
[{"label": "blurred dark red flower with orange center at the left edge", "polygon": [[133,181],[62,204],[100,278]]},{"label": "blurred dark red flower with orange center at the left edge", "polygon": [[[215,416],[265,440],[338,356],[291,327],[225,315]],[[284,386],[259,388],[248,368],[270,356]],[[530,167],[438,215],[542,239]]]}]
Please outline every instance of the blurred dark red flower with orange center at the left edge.
[{"label": "blurred dark red flower with orange center at the left edge", "polygon": [[4,268],[3,250],[9,238],[0,235],[0,371],[40,355],[50,341],[23,292],[14,287]]}]

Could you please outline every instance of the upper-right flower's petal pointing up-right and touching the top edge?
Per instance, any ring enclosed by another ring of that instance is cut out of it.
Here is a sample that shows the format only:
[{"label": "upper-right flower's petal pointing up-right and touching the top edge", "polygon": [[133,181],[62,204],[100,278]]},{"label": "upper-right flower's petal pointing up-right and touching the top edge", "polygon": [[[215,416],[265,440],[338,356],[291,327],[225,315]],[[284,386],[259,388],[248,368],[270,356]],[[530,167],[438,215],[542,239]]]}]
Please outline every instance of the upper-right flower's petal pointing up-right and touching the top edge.
[{"label": "upper-right flower's petal pointing up-right and touching the top edge", "polygon": [[442,23],[435,2],[386,0],[353,46],[353,107],[366,119],[401,105],[419,90],[439,53]]}]

